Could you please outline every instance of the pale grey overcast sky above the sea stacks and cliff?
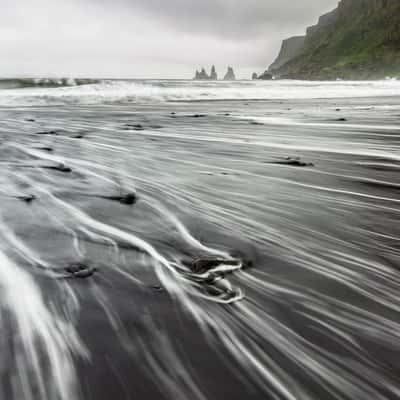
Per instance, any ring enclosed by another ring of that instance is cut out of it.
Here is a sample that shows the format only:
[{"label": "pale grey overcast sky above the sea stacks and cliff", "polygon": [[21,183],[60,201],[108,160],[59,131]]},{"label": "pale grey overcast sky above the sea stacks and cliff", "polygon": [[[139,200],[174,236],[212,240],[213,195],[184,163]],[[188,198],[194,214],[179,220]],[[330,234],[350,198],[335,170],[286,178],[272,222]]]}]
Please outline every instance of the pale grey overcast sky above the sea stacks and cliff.
[{"label": "pale grey overcast sky above the sea stacks and cliff", "polygon": [[338,0],[1,0],[0,76],[261,72]]}]

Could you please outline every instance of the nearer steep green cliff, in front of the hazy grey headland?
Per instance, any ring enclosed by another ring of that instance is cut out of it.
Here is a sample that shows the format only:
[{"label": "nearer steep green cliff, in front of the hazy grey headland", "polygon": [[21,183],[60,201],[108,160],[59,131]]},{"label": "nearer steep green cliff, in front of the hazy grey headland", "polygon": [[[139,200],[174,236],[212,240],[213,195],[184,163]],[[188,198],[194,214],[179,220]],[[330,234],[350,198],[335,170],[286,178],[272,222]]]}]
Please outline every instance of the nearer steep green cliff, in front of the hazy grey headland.
[{"label": "nearer steep green cliff, in front of the hazy grey headland", "polygon": [[400,0],[340,1],[307,29],[302,49],[274,68],[274,74],[296,79],[400,77]]}]

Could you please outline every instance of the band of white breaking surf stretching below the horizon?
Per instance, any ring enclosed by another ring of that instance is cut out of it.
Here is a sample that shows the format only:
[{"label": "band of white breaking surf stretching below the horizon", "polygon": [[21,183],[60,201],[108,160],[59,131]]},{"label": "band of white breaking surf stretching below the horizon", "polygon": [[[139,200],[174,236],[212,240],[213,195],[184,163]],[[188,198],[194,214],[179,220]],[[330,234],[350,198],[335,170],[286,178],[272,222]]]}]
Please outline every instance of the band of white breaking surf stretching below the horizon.
[{"label": "band of white breaking surf stretching below the horizon", "polygon": [[[6,87],[6,82],[9,87]],[[16,82],[20,86],[13,87],[12,85]],[[3,87],[3,90],[0,90],[0,106],[362,98],[400,94],[400,82],[392,80],[194,82],[189,80],[45,79],[3,80],[0,81],[0,87]]]}]

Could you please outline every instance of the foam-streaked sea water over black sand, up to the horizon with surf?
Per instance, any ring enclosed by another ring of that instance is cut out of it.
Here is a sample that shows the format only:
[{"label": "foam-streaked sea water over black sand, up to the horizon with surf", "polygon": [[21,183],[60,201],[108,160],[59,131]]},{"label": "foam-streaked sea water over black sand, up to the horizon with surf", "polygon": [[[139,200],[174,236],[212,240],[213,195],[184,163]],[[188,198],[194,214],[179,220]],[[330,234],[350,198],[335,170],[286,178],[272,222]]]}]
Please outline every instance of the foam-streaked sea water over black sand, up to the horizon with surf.
[{"label": "foam-streaked sea water over black sand, up to the horizon with surf", "polygon": [[0,81],[0,399],[400,398],[400,82]]}]

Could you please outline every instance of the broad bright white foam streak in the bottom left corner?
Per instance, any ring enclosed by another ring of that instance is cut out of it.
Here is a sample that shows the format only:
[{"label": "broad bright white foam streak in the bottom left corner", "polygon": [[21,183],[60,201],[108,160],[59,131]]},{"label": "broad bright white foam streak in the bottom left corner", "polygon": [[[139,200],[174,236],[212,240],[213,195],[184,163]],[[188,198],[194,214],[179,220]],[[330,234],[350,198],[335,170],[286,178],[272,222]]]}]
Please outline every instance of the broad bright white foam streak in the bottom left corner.
[{"label": "broad bright white foam streak in the bottom left corner", "polygon": [[[86,355],[74,328],[52,313],[45,305],[40,289],[32,278],[0,251],[0,288],[4,291],[3,311],[16,324],[15,345],[19,377],[14,390],[23,390],[24,399],[34,399],[39,390],[43,400],[78,398],[73,354]],[[39,366],[42,356],[49,368]],[[17,397],[16,397],[17,398]]]}]

